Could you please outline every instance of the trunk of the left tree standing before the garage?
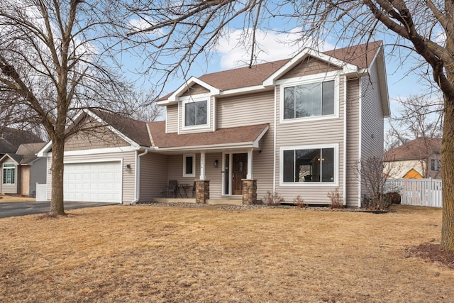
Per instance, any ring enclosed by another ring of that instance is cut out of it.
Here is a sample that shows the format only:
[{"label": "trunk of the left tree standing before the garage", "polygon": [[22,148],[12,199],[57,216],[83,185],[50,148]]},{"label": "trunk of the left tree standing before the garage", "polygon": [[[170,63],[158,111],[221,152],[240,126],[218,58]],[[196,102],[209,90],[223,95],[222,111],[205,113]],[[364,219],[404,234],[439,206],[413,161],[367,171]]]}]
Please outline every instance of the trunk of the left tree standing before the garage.
[{"label": "trunk of the left tree standing before the garage", "polygon": [[63,205],[63,153],[65,138],[52,140],[52,196],[50,197],[50,216],[65,215]]}]

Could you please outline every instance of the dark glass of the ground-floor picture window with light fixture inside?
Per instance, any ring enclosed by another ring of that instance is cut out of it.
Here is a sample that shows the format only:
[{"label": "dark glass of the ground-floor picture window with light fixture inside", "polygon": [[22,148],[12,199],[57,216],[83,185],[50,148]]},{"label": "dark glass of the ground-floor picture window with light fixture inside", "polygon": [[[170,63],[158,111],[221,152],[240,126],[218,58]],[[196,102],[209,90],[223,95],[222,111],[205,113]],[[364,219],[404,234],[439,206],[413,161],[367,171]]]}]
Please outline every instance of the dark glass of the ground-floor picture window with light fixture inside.
[{"label": "dark glass of the ground-floor picture window with light fixture inside", "polygon": [[282,157],[284,183],[336,181],[334,148],[283,150]]}]

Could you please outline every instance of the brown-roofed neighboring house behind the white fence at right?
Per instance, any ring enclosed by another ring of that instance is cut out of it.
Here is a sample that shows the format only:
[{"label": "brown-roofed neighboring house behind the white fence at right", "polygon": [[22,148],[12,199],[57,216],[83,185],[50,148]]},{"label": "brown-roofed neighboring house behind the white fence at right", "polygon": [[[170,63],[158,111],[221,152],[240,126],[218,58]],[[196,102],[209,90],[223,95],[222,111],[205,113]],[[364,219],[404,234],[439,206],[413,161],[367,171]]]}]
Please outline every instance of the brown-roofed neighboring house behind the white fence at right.
[{"label": "brown-roofed neighboring house behind the white fence at right", "polygon": [[389,150],[384,159],[390,177],[404,179],[441,178],[441,138],[417,138]]}]

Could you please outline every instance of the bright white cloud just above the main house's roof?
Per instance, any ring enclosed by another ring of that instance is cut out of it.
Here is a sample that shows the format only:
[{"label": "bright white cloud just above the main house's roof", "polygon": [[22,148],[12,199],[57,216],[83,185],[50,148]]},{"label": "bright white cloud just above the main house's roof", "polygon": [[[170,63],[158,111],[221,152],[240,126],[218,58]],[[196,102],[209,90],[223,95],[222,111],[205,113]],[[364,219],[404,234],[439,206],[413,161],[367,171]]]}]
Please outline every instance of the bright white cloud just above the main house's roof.
[{"label": "bright white cloud just above the main house's roof", "polygon": [[[256,39],[259,45],[257,55],[257,63],[271,62],[280,59],[293,57],[306,46],[314,44],[314,40],[306,40],[306,43],[299,40],[299,29],[289,31],[289,33],[277,33],[273,31],[256,32]],[[244,41],[247,30],[229,31],[226,35],[219,39],[216,46],[216,53],[221,57],[221,68],[231,69],[248,65],[250,61],[250,39],[247,43]],[[249,29],[249,33],[251,30]],[[323,42],[319,45],[319,50],[333,49],[332,45]]]}]

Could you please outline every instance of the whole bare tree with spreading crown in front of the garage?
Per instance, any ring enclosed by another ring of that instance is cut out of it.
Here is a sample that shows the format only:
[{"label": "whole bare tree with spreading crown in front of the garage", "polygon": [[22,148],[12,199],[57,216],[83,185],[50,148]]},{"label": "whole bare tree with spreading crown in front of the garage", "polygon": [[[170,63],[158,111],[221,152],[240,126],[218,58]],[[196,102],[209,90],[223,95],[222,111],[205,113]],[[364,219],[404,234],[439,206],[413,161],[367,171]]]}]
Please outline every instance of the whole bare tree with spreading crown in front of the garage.
[{"label": "whole bare tree with spreading crown in front of the garage", "polygon": [[132,87],[115,68],[121,10],[117,1],[0,2],[0,118],[42,125],[52,141],[52,216],[65,214],[65,138],[79,131],[67,126],[84,108],[130,108]]}]

